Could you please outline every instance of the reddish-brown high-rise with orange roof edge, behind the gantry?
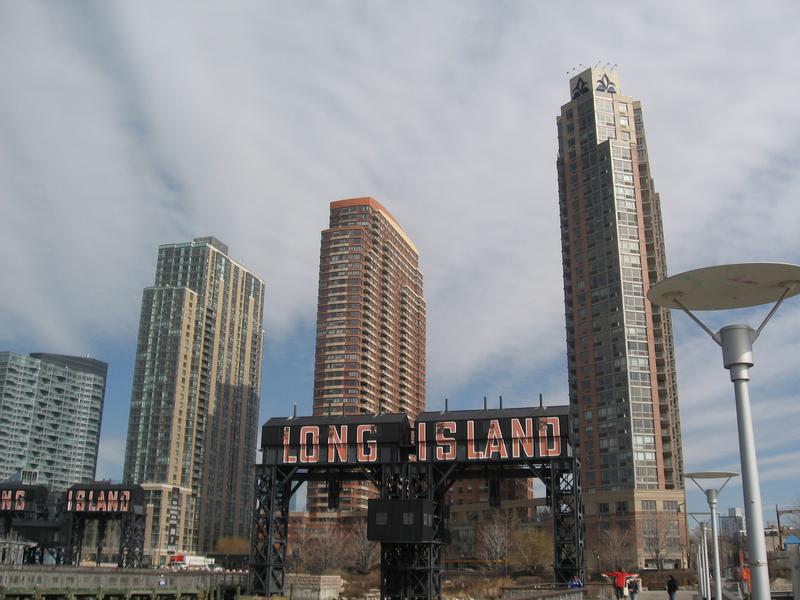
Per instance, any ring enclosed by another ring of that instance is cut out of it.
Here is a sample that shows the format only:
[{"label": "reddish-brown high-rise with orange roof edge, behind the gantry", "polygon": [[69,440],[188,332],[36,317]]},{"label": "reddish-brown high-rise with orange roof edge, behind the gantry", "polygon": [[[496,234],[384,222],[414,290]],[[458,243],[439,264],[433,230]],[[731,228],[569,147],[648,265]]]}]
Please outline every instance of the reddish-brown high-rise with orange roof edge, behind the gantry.
[{"label": "reddish-brown high-rise with orange roof edge, behind the gantry", "polygon": [[[314,414],[425,409],[425,300],[419,252],[372,198],[331,203],[322,232],[314,363]],[[366,510],[368,486],[341,493],[342,510]],[[327,507],[309,486],[309,510]]]}]

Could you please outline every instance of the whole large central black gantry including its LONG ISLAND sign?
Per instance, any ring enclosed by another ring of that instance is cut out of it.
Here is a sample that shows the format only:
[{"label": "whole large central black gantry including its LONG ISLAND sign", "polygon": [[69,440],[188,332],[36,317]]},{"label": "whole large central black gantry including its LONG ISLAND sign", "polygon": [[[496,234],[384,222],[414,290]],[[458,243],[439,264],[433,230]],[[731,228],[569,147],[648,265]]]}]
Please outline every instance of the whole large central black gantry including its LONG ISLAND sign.
[{"label": "whole large central black gantry including its LONG ISLAND sign", "polygon": [[[445,495],[456,480],[540,479],[553,518],[557,581],[583,576],[580,464],[568,407],[270,419],[262,431],[250,557],[250,593],[282,595],[289,500],[308,481],[328,483],[329,506],[346,481],[372,482],[369,537],[381,542],[381,598],[441,597]],[[415,515],[421,528],[408,527]],[[414,531],[415,533],[410,533]]]}]

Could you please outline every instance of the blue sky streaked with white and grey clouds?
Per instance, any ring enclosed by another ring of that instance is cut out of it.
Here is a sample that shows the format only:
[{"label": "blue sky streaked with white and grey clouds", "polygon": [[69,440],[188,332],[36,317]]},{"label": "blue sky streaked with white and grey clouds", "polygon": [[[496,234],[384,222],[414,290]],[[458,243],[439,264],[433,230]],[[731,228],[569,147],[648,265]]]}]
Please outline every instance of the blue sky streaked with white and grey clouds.
[{"label": "blue sky streaked with white and grey clouds", "polygon": [[[569,77],[617,65],[641,100],[670,273],[800,263],[798,22],[769,0],[0,0],[0,350],[109,363],[98,477],[119,479],[158,245],[214,235],[267,283],[261,419],[310,414],[320,231],[331,201],[372,196],[421,252],[427,406],[566,404]],[[738,471],[719,348],[674,328],[686,470]],[[774,521],[800,497],[800,299],[755,351]]]}]

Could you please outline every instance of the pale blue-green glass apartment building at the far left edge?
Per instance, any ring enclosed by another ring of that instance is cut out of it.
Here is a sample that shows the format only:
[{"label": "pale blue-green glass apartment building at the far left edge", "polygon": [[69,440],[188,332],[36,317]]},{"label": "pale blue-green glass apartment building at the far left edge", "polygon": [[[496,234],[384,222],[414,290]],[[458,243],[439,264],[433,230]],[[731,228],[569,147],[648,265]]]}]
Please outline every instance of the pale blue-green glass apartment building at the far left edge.
[{"label": "pale blue-green glass apartment building at the far left edge", "polygon": [[0,481],[63,491],[94,480],[108,365],[0,352]]}]

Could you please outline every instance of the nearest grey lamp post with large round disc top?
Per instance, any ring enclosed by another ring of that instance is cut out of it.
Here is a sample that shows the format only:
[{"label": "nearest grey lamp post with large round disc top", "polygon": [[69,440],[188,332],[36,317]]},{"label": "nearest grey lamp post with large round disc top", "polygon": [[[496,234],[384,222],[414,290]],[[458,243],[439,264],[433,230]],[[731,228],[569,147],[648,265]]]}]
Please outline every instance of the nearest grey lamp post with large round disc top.
[{"label": "nearest grey lamp post with large round disc top", "polygon": [[[681,309],[722,347],[723,365],[730,371],[736,397],[753,600],[770,600],[764,516],[750,412],[753,342],[781,303],[797,294],[800,294],[800,266],[784,263],[744,263],[696,269],[668,277],[647,292],[653,304]],[[746,308],[771,302],[775,305],[758,329],[748,325],[728,325],[714,333],[691,312]]]}]

